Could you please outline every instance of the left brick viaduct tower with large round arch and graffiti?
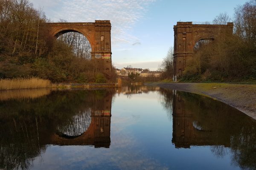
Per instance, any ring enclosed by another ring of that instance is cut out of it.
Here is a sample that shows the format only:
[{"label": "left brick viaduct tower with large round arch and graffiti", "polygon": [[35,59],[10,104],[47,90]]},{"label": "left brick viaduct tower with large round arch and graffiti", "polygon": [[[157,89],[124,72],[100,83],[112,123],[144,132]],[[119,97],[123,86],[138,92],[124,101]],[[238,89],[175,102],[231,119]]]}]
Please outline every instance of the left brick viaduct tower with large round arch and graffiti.
[{"label": "left brick viaduct tower with large round arch and graffiti", "polygon": [[109,20],[95,20],[95,23],[45,23],[50,34],[58,38],[67,32],[79,32],[90,42],[96,69],[111,76],[111,23]]}]

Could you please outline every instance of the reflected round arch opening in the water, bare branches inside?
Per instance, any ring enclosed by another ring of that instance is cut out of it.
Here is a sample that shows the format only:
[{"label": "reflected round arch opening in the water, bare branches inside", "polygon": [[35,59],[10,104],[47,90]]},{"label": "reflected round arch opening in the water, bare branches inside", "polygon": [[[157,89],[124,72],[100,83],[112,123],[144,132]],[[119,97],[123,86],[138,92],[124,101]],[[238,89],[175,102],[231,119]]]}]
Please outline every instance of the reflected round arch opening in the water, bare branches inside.
[{"label": "reflected round arch opening in the water, bare branches inside", "polygon": [[57,127],[57,134],[66,139],[81,136],[90,126],[91,109],[79,111]]}]

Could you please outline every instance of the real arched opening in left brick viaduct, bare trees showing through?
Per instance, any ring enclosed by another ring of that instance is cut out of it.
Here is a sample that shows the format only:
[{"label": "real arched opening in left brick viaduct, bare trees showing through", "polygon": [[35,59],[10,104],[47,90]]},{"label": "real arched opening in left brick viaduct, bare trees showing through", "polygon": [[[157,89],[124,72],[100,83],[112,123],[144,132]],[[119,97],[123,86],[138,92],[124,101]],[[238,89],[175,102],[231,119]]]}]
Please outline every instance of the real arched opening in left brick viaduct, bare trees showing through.
[{"label": "real arched opening in left brick viaduct, bare trees showing through", "polygon": [[80,32],[75,30],[64,30],[58,32],[55,37],[58,41],[66,43],[76,57],[91,59],[92,47],[89,40]]}]

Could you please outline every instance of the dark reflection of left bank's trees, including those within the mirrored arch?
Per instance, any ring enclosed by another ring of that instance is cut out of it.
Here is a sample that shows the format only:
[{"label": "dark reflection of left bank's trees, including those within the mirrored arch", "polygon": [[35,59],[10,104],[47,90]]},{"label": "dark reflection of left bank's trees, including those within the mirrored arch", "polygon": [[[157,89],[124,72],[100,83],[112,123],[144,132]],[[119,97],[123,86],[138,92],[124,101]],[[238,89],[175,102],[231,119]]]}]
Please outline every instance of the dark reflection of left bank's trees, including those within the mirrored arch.
[{"label": "dark reflection of left bank's trees, including those within the mirrored arch", "polygon": [[60,129],[70,136],[83,133],[90,125],[95,101],[112,93],[52,91],[35,99],[1,101],[0,169],[29,169],[33,159],[46,149],[49,137]]}]

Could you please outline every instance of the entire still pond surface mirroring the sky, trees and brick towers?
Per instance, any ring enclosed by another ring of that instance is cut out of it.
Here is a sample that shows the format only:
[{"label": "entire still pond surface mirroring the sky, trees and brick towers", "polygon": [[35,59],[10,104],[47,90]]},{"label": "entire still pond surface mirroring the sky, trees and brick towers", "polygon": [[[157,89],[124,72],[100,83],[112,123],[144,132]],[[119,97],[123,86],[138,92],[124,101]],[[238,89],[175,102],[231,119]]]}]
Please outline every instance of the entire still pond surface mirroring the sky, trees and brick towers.
[{"label": "entire still pond surface mirroring the sky, trees and brick towers", "polygon": [[256,121],[143,85],[0,92],[0,169],[256,169]]}]

